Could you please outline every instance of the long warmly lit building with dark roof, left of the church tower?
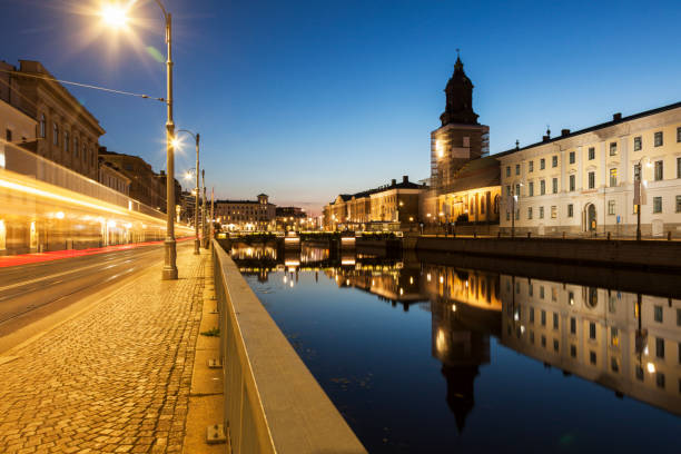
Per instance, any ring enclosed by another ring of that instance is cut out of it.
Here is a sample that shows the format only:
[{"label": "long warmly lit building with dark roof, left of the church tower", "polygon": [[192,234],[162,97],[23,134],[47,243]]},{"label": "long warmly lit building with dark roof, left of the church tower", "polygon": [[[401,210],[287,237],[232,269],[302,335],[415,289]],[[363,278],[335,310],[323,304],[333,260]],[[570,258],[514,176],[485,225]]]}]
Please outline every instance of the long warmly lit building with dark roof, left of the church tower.
[{"label": "long warmly lit building with dark roof, left of the church tower", "polygon": [[389,185],[357,194],[340,194],[324,207],[324,228],[337,230],[402,228],[418,221],[418,200],[425,186],[393,179]]}]

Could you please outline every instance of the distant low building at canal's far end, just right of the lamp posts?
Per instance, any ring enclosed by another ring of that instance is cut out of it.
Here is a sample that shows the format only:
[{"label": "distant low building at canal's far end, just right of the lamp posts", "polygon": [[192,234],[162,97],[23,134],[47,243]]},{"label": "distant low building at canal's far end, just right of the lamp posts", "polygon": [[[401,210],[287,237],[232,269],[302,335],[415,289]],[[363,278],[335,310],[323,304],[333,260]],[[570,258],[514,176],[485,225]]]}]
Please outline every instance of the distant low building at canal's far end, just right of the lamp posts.
[{"label": "distant low building at canal's far end, just right of the lamp posts", "polygon": [[215,218],[229,230],[268,230],[274,228],[276,206],[266,194],[257,200],[216,200]]}]

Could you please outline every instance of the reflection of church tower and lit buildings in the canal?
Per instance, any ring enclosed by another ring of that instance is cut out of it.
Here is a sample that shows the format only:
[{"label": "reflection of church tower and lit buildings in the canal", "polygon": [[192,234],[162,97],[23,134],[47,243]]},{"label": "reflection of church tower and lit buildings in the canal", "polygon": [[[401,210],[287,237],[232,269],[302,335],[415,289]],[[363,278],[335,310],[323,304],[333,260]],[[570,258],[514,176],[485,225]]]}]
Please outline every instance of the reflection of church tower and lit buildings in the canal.
[{"label": "reflection of church tower and lit buildings in the canal", "polygon": [[[249,257],[234,253],[239,266]],[[303,247],[295,260],[286,258],[297,261],[295,267],[282,260],[285,279],[315,270],[317,278],[323,273],[339,287],[368,292],[404,310],[413,304],[430,309],[432,355],[442,363],[446,402],[460,432],[475,404],[480,366],[491,361],[490,336],[565,375],[681,415],[680,299],[413,260],[332,259],[328,249]]]}]

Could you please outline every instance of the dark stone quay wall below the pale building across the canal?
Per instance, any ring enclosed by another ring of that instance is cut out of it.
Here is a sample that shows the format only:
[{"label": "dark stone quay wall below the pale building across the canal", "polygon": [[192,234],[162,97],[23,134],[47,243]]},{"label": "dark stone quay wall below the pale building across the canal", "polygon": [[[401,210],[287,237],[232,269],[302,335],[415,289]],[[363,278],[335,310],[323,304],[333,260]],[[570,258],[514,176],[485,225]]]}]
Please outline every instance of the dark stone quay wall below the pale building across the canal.
[{"label": "dark stone quay wall below the pale building across the canal", "polygon": [[417,251],[456,253],[575,265],[681,269],[681,241],[418,237]]}]

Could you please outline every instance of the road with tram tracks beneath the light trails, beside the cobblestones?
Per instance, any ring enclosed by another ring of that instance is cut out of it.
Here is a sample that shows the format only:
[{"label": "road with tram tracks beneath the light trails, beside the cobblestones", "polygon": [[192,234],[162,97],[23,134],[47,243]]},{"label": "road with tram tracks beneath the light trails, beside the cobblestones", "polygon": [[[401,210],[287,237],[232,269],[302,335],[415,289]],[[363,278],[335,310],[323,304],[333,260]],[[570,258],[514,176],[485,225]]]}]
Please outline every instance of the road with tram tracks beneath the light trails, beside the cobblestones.
[{"label": "road with tram tracks beneath the light trails, beside the cobblestones", "polygon": [[[159,267],[160,276],[162,258],[164,246],[158,244],[2,268],[0,339],[151,266]],[[0,342],[0,353],[18,340]]]}]

